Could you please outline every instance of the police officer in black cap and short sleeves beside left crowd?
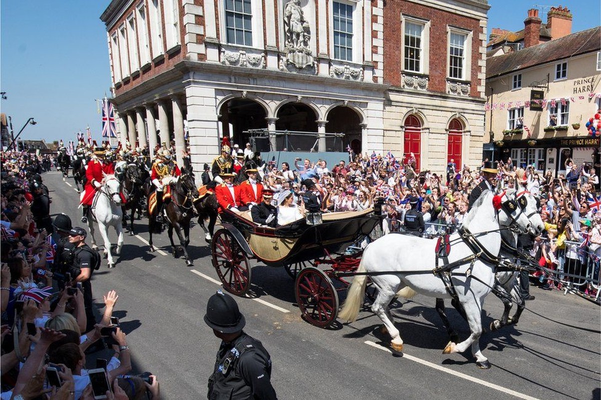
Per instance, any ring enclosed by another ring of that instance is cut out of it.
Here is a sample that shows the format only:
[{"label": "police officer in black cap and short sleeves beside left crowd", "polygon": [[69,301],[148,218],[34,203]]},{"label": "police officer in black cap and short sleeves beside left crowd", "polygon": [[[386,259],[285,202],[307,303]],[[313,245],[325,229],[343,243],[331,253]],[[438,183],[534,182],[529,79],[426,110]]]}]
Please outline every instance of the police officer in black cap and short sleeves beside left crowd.
[{"label": "police officer in black cap and short sleeves beside left crowd", "polygon": [[90,332],[90,330],[94,329],[94,324],[96,323],[96,317],[94,317],[93,312],[91,278],[100,260],[97,259],[97,253],[85,243],[87,234],[88,232],[79,226],[75,226],[69,232],[69,243],[72,245],[72,261],[70,262],[68,271],[71,273],[73,280],[81,283],[84,291],[84,307],[87,319],[86,332]]}]

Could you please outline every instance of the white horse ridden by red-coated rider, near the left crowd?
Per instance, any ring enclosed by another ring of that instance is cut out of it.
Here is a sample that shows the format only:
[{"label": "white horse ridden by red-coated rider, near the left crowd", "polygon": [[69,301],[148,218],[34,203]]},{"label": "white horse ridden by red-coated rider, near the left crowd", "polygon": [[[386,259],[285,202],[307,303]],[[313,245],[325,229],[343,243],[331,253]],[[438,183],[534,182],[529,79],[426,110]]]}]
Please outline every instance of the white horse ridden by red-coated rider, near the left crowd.
[{"label": "white horse ridden by red-coated rider, near the left crowd", "polygon": [[92,202],[91,214],[92,218],[88,218],[88,228],[90,228],[90,235],[92,237],[92,247],[97,249],[96,238],[94,238],[94,222],[98,224],[98,230],[102,236],[102,240],[105,242],[104,253],[107,258],[108,267],[114,268],[115,261],[111,255],[111,241],[109,240],[109,226],[113,226],[117,232],[117,249],[115,254],[121,253],[121,247],[123,246],[123,226],[121,226],[121,219],[123,218],[123,211],[121,211],[121,183],[115,177],[115,175],[104,175],[102,180],[102,186],[97,189]]}]

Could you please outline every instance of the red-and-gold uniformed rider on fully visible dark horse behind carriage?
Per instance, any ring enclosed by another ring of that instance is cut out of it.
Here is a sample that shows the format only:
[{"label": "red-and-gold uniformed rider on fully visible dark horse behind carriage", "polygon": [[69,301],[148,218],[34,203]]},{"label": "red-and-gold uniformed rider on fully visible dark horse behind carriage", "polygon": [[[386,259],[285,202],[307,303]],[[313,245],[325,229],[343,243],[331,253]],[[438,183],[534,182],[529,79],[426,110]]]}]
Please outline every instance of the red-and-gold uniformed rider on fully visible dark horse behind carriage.
[{"label": "red-and-gold uniformed rider on fully visible dark horse behind carriage", "polygon": [[157,222],[162,222],[163,203],[171,200],[169,184],[177,181],[177,178],[182,175],[182,171],[177,166],[177,162],[172,160],[169,150],[163,150],[157,157],[158,160],[154,162],[150,173],[150,180],[155,187],[156,195],[148,199],[148,212],[153,214],[156,209]]}]

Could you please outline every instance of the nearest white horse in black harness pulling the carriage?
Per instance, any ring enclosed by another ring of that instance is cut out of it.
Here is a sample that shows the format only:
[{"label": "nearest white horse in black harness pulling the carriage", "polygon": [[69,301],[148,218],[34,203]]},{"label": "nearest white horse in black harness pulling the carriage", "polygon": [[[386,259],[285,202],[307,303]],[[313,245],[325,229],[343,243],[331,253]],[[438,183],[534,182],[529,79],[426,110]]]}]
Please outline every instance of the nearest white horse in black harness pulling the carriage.
[{"label": "nearest white horse in black harness pulling the carriage", "polygon": [[[409,286],[409,289],[400,293],[403,297],[407,297],[413,292],[411,289],[415,289],[430,297],[451,298],[453,295],[450,294],[450,288],[465,309],[471,335],[459,344],[449,342],[443,353],[460,353],[471,346],[477,366],[490,368],[489,361],[480,351],[479,339],[482,333],[484,298],[495,283],[495,264],[490,259],[496,258],[501,249],[499,213],[507,213],[523,232],[531,228],[526,214],[513,200],[507,195],[495,199],[502,202],[501,210],[496,210],[493,196],[492,191],[486,190],[466,215],[462,227],[466,230],[460,229],[451,235],[452,250],[448,255],[447,265],[454,264],[454,267],[446,273],[442,272],[440,276],[432,273],[436,265],[435,240],[389,234],[365,249],[358,272],[370,274],[371,281],[378,289],[371,311],[382,320],[392,337],[391,347],[395,351],[403,350],[403,339],[392,323],[388,304],[399,289]],[[502,201],[502,198],[507,200]],[[444,266],[441,265],[442,268]],[[366,283],[367,275],[355,276],[338,315],[341,320],[356,321]]]}]

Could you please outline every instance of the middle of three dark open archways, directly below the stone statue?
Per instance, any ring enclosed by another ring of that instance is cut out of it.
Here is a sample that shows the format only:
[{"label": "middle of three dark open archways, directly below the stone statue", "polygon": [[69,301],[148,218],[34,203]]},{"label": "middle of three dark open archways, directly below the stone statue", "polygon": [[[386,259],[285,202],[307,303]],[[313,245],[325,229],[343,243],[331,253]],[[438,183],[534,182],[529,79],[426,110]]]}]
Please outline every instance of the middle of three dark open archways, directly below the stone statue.
[{"label": "middle of three dark open archways, directly below the stone statue", "polygon": [[[317,115],[304,103],[286,103],[278,109],[275,129],[288,131],[276,137],[276,148],[288,151],[317,149]],[[310,133],[315,135],[310,135]]]}]

